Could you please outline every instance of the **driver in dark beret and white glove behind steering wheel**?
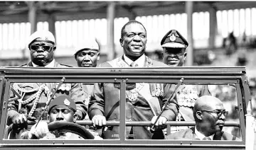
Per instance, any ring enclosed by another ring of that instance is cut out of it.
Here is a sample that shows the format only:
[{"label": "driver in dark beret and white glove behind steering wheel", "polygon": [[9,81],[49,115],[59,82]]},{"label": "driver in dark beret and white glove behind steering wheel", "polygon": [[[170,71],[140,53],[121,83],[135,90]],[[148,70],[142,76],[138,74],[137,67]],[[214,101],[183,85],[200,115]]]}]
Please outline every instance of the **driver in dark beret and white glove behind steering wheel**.
[{"label": "driver in dark beret and white glove behind steering wheel", "polygon": [[[76,105],[69,96],[61,95],[53,99],[48,106],[48,115],[50,122],[75,122]],[[96,132],[90,131],[95,139],[102,139]],[[50,132],[47,122],[40,121],[38,125],[33,125],[30,131],[23,132],[21,139],[83,139],[78,134],[71,132]]]}]

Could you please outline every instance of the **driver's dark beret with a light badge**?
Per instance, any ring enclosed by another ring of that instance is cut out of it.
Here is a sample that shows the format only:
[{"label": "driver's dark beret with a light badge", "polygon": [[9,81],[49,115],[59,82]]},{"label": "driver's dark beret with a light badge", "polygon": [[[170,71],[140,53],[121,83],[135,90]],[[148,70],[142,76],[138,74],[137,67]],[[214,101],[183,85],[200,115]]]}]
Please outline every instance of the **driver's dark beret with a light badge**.
[{"label": "driver's dark beret with a light badge", "polygon": [[50,114],[50,110],[55,106],[63,106],[70,108],[74,112],[76,111],[75,101],[66,95],[60,95],[50,102],[50,105],[48,105],[48,114]]}]

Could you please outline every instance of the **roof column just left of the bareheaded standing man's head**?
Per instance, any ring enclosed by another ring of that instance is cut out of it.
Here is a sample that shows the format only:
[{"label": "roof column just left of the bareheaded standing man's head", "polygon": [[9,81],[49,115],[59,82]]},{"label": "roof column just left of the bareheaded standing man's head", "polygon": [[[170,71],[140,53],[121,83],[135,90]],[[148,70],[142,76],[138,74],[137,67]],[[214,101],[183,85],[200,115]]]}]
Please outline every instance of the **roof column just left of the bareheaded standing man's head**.
[{"label": "roof column just left of the bareheaded standing man's head", "polygon": [[112,60],[116,57],[114,50],[114,16],[115,3],[111,1],[107,6],[107,59]]}]

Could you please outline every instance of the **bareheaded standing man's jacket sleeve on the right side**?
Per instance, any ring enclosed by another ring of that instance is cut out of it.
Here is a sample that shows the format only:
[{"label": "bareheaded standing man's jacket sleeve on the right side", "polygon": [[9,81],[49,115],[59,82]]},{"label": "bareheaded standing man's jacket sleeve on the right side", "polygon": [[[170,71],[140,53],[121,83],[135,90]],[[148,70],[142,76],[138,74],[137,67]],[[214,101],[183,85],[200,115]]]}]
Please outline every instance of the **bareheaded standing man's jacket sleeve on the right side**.
[{"label": "bareheaded standing man's jacket sleeve on the right side", "polygon": [[[171,97],[171,94],[174,93],[174,88],[175,88],[174,84],[166,83],[164,85],[164,96],[162,100],[163,105],[167,102],[167,100],[169,100],[169,98]],[[178,114],[178,103],[177,103],[177,98],[175,96],[174,99],[169,100],[161,116],[166,117],[168,121],[173,121],[173,120],[176,120],[177,114]]]}]

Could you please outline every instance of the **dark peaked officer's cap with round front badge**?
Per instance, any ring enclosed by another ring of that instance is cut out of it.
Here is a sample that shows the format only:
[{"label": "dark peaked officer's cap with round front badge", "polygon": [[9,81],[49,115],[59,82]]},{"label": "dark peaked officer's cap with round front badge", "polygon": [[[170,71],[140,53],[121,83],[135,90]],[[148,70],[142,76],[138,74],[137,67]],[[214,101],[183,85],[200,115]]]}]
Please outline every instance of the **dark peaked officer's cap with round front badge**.
[{"label": "dark peaked officer's cap with round front badge", "polygon": [[188,42],[178,30],[170,30],[161,40],[161,47],[186,48]]}]

